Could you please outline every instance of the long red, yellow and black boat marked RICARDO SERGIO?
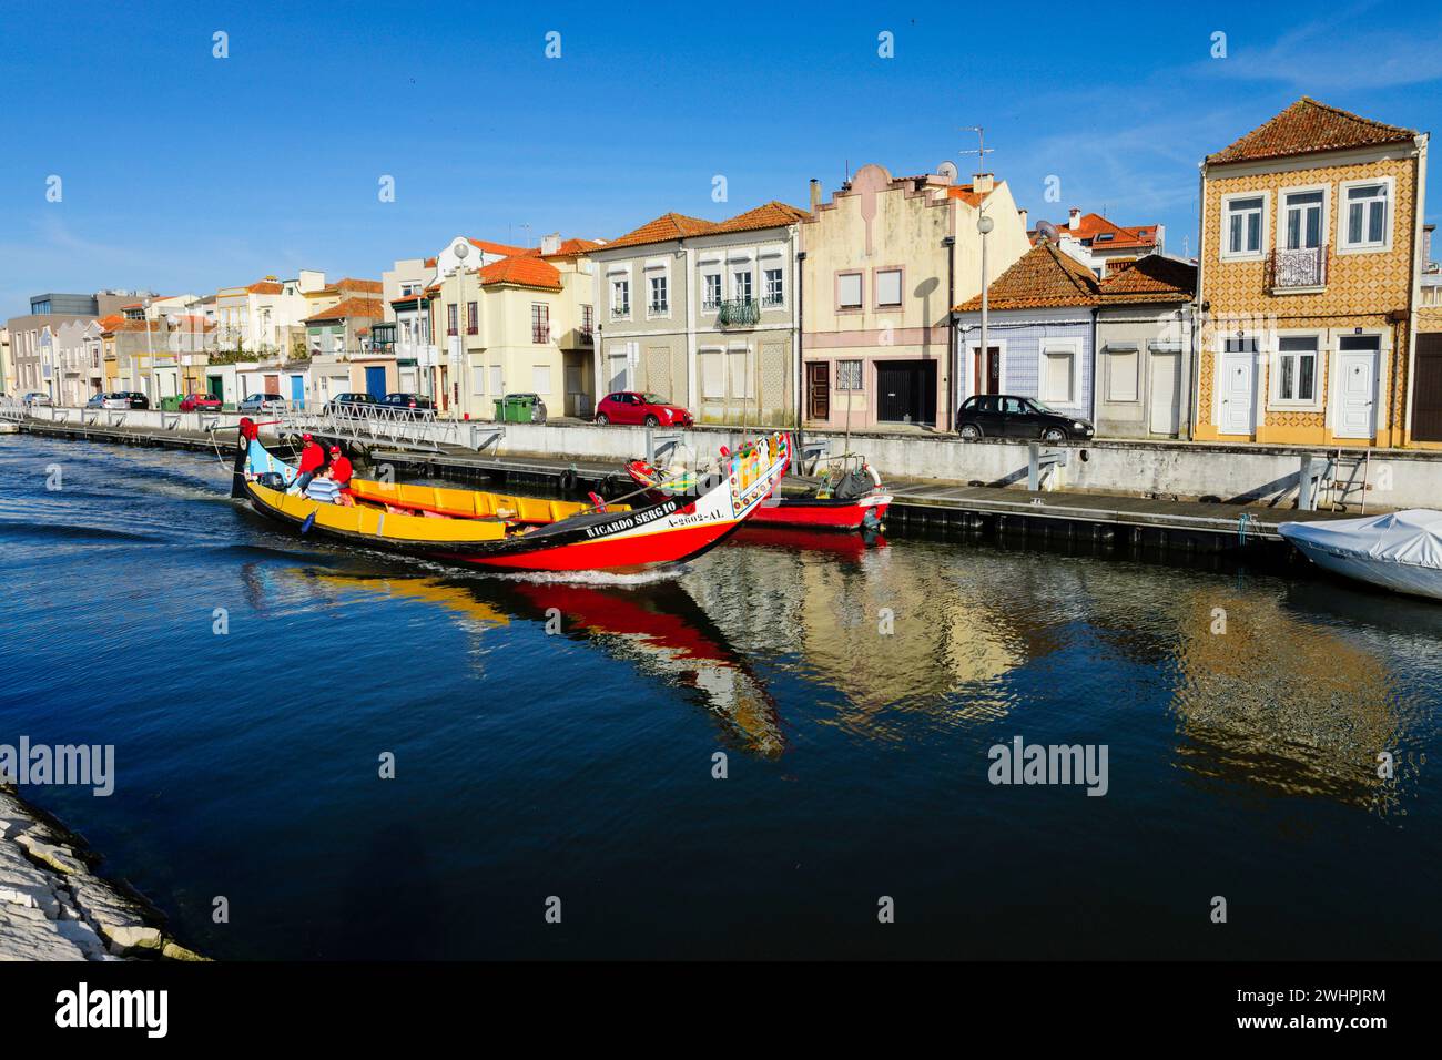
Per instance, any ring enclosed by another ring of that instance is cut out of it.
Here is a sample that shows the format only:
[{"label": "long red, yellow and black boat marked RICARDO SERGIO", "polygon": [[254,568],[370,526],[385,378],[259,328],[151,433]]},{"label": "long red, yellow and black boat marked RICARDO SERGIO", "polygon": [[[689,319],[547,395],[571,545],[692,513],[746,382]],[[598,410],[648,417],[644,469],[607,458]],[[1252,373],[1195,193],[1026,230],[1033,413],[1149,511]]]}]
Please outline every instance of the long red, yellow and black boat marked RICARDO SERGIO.
[{"label": "long red, yellow and black boat marked RICARDO SERGIO", "polygon": [[340,544],[509,571],[639,571],[694,560],[771,495],[790,463],[786,434],[727,456],[695,496],[656,505],[580,505],[467,489],[355,479],[337,505],[303,496],[297,470],[241,421],[232,496],[301,534]]}]

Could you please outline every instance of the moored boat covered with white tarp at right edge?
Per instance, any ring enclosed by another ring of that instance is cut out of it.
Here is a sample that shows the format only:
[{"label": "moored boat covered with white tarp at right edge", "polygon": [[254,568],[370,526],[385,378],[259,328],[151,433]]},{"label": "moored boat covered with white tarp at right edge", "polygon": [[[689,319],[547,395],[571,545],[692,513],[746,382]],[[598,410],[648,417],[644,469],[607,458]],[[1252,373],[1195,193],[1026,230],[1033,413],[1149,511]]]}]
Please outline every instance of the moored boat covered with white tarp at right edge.
[{"label": "moored boat covered with white tarp at right edge", "polygon": [[1397,593],[1442,600],[1442,512],[1283,522],[1278,534],[1318,567]]}]

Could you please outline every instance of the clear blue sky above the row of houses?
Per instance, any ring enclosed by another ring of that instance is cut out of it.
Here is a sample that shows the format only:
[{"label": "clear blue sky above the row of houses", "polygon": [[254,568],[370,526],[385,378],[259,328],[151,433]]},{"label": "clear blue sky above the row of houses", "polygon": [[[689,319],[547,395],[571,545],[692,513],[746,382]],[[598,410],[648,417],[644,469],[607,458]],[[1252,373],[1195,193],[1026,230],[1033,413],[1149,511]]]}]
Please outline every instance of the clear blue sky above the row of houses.
[{"label": "clear blue sky above the row of houses", "polygon": [[[379,278],[457,232],[611,238],[666,211],[805,206],[809,177],[829,192],[848,164],[970,173],[976,124],[1034,219],[1074,205],[1162,222],[1180,254],[1201,156],[1301,95],[1442,131],[1436,3],[66,3],[37,17],[4,0],[0,14],[0,319],[46,290]],[[218,30],[229,58],[212,56]],[[50,175],[62,202],[46,202]],[[395,202],[378,199],[382,175]],[[1439,221],[1442,167],[1430,183]]]}]

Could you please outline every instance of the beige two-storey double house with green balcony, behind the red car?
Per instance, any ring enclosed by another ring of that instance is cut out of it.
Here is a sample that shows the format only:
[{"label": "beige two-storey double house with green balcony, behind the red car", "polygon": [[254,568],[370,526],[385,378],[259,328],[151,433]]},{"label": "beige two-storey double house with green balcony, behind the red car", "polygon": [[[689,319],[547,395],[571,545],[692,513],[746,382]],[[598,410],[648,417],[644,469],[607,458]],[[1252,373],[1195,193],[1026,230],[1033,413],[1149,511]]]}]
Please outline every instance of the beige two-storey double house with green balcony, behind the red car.
[{"label": "beige two-storey double house with green balcony, behind the red car", "polygon": [[653,392],[698,423],[796,423],[797,226],[767,202],[727,221],[665,213],[591,252],[596,397]]}]

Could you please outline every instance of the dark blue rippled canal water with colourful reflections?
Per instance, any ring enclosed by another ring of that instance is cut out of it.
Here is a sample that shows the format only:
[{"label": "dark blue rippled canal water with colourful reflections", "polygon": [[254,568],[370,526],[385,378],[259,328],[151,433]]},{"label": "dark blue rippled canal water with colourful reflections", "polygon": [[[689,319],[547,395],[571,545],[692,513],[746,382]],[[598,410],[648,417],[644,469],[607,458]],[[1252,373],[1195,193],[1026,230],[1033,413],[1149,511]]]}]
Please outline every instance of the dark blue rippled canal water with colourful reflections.
[{"label": "dark blue rippled canal water with colourful reflections", "polygon": [[[23,793],[211,956],[1442,956],[1442,607],[751,532],[490,577],[228,477],[0,437],[0,743],[115,746]],[[992,783],[1017,738],[1106,793]]]}]

